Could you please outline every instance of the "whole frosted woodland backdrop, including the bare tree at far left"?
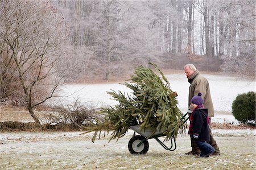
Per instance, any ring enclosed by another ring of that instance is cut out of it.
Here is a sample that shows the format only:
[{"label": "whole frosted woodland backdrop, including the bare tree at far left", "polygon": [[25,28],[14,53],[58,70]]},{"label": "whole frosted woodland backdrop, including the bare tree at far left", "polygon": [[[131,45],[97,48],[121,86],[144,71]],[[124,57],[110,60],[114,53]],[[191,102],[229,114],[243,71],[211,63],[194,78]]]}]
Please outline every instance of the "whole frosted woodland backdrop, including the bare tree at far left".
[{"label": "whole frosted woodland backdrop, including the bare tree at far left", "polygon": [[[0,0],[0,100],[33,109],[57,87],[152,62],[255,76],[255,1]],[[25,103],[25,104],[24,104]]]}]

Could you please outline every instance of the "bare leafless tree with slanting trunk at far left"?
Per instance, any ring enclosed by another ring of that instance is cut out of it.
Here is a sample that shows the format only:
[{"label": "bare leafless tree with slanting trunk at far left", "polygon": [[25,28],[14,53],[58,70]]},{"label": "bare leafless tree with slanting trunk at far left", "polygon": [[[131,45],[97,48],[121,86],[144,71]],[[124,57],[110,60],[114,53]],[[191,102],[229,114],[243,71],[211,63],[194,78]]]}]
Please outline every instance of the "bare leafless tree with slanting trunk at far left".
[{"label": "bare leafless tree with slanting trunk at far left", "polygon": [[65,43],[63,19],[47,1],[1,0],[0,6],[3,50],[15,64],[28,111],[40,123],[34,108],[54,97],[63,82],[55,68]]}]

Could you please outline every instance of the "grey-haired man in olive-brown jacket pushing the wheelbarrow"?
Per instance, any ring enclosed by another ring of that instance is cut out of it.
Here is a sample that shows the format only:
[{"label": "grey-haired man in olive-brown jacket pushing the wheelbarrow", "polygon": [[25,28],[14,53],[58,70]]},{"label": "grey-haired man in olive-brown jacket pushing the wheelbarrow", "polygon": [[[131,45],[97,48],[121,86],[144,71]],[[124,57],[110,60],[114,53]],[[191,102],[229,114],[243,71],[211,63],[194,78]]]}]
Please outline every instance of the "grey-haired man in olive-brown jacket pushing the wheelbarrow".
[{"label": "grey-haired man in olive-brown jacket pushing the wheelbarrow", "polygon": [[[199,92],[202,93],[202,98],[204,99],[204,107],[208,109],[209,119],[214,117],[212,97],[210,97],[210,87],[208,80],[203,77],[199,71],[197,71],[195,65],[187,64],[184,66],[185,74],[188,78],[188,82],[191,84],[189,86],[188,94],[188,113],[192,113],[193,107],[191,106],[191,99],[196,96]],[[212,130],[210,130],[210,145],[214,147],[215,152],[213,155],[220,155],[220,150],[213,139]],[[196,145],[195,140],[191,140],[192,151],[186,153],[187,155],[199,155],[200,149]]]}]

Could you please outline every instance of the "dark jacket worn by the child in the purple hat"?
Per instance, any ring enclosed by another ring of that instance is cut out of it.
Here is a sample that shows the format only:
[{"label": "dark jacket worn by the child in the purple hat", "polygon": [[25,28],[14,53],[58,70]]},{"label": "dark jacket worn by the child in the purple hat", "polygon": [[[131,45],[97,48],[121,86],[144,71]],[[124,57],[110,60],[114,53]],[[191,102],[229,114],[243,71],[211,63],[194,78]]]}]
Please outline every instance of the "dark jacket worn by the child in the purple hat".
[{"label": "dark jacket worn by the child in the purple hat", "polygon": [[[210,142],[210,128],[207,121],[208,110],[196,109],[192,113],[192,132],[190,132],[192,139],[199,141]],[[198,138],[193,138],[193,134],[199,134]]]}]

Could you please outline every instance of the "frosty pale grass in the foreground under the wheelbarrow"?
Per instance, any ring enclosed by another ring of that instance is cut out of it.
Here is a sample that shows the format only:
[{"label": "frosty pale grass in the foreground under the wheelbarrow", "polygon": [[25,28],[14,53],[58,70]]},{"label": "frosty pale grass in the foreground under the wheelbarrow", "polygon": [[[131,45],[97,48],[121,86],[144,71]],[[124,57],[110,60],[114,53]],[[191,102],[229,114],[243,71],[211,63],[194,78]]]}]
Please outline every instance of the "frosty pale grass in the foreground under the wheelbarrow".
[{"label": "frosty pale grass in the foreground under the wheelbarrow", "polygon": [[[70,134],[70,133],[69,133]],[[24,135],[24,134],[22,134]],[[45,133],[42,133],[45,135]],[[175,151],[166,151],[148,140],[146,155],[131,155],[131,134],[118,142],[108,138],[92,143],[88,134],[79,137],[34,140],[4,140],[0,169],[254,169],[255,136],[216,136],[221,155],[197,158],[184,155],[190,148],[188,135],[178,136]],[[40,137],[38,137],[40,138]]]}]

